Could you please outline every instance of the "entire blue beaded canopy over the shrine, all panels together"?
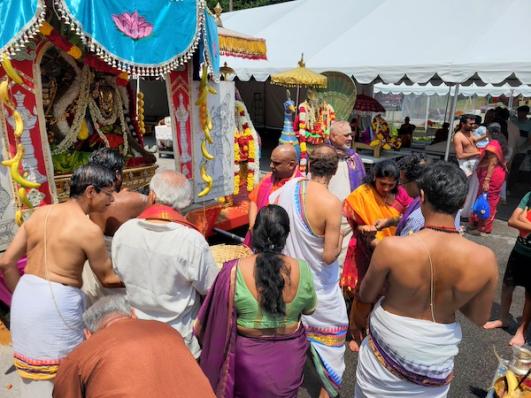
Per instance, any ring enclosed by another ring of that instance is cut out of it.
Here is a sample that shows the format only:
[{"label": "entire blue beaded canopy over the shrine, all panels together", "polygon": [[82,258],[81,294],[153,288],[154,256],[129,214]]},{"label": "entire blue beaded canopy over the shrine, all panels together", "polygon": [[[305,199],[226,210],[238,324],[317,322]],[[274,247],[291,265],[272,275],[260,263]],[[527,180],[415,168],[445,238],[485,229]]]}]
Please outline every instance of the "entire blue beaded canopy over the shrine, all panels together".
[{"label": "entire blue beaded canopy over the shrine, all panels together", "polygon": [[[90,51],[136,75],[161,75],[201,57],[219,73],[219,41],[205,0],[52,0]],[[0,54],[14,55],[38,33],[44,0],[0,0]]]}]

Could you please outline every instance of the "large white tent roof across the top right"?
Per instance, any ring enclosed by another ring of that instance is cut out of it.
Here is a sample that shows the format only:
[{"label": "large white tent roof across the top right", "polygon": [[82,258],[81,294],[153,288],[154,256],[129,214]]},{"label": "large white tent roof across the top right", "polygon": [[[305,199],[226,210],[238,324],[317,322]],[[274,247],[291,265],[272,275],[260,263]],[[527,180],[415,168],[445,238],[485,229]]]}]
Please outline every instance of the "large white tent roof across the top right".
[{"label": "large white tent roof across the top right", "polygon": [[296,0],[227,13],[223,22],[268,44],[267,61],[227,60],[241,80],[264,81],[303,52],[312,70],[365,84],[516,86],[531,84],[529,15],[527,0]]}]

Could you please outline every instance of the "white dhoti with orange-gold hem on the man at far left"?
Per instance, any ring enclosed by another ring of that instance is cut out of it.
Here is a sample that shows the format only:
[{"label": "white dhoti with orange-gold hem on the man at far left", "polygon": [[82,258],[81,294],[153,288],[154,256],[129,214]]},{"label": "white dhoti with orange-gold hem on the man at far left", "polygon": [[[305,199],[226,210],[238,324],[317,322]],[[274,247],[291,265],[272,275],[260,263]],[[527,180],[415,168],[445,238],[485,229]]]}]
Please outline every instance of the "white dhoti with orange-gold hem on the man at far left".
[{"label": "white dhoti with orange-gold hem on the man at far left", "polygon": [[51,380],[59,361],[83,341],[80,289],[25,274],[11,304],[14,362],[24,379]]}]

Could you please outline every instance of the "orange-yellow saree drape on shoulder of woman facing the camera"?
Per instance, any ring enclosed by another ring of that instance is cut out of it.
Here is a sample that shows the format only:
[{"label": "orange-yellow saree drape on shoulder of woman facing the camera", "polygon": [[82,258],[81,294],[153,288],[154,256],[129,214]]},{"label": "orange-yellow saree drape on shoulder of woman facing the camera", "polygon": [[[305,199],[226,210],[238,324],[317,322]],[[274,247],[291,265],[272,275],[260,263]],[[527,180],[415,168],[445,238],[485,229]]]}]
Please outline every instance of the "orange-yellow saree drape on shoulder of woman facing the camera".
[{"label": "orange-yellow saree drape on shoulder of woman facing the camera", "polygon": [[[381,218],[398,217],[399,211],[385,203],[382,197],[369,184],[363,184],[354,190],[344,203],[345,216],[357,225],[374,225]],[[377,239],[393,236],[396,227],[385,228],[376,233]]]}]

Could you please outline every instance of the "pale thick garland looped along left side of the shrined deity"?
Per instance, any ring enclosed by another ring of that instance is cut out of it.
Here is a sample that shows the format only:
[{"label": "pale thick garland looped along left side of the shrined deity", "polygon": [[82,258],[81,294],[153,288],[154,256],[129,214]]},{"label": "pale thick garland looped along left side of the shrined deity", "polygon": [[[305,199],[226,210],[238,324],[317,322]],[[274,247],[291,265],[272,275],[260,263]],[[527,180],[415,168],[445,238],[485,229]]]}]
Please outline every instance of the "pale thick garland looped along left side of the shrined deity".
[{"label": "pale thick garland looped along left side of the shrined deity", "polygon": [[[81,77],[79,81],[76,78],[76,80],[74,80],[72,83],[74,85],[79,84],[79,95],[74,110],[74,118],[72,120],[72,124],[68,126],[65,114],[59,114],[59,117],[57,118],[57,127],[63,133],[64,138],[53,149],[52,154],[56,155],[65,152],[77,141],[77,136],[81,130],[81,125],[85,120],[87,104],[89,103],[91,80],[92,75],[90,73],[90,69],[88,66],[85,66],[81,71]],[[76,88],[73,89],[72,93],[75,93],[75,91],[77,91]],[[73,100],[70,98],[70,96],[67,98],[65,97],[66,95],[63,96],[63,98],[61,98],[56,104],[54,114],[58,114],[58,112],[62,109],[66,111],[66,108],[72,103]]]}]

